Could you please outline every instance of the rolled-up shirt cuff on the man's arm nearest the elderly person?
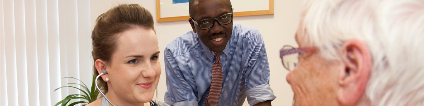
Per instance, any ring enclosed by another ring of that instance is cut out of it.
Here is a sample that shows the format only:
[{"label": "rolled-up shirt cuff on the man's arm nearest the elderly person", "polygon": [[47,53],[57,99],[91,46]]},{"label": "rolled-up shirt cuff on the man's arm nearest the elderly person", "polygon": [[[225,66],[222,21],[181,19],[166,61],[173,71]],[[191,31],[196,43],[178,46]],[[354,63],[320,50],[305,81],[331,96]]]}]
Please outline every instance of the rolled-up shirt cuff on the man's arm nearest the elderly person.
[{"label": "rolled-up shirt cuff on the man's arm nearest the elderly person", "polygon": [[253,106],[259,102],[274,100],[276,96],[269,84],[262,84],[246,90],[247,102]]}]

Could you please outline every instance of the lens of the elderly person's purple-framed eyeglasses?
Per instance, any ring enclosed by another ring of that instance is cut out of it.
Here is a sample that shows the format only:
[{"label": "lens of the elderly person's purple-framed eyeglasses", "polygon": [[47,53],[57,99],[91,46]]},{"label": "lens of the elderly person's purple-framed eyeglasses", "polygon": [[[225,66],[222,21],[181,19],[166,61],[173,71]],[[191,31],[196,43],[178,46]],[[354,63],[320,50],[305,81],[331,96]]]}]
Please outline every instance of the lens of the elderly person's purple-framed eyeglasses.
[{"label": "lens of the elderly person's purple-framed eyeglasses", "polygon": [[[291,46],[283,47],[283,50],[290,50],[290,49],[294,49],[294,47],[291,47]],[[293,53],[293,54],[290,54],[290,55],[283,56],[282,62],[283,62],[284,67],[289,71],[293,71],[294,68],[297,65],[297,62],[298,62],[298,56],[299,56],[298,53]]]}]

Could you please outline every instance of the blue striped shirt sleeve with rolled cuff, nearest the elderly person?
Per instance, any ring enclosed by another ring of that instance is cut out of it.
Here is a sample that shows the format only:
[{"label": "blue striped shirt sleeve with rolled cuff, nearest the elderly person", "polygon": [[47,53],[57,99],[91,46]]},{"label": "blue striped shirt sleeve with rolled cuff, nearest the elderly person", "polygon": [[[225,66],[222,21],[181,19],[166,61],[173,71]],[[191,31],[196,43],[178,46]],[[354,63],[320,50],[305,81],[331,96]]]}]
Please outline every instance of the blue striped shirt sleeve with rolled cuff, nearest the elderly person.
[{"label": "blue striped shirt sleeve with rolled cuff, nearest the elderly person", "polygon": [[276,98],[269,85],[269,65],[265,44],[259,31],[256,31],[255,35],[254,39],[249,42],[250,53],[245,73],[247,89],[245,93],[250,106]]}]

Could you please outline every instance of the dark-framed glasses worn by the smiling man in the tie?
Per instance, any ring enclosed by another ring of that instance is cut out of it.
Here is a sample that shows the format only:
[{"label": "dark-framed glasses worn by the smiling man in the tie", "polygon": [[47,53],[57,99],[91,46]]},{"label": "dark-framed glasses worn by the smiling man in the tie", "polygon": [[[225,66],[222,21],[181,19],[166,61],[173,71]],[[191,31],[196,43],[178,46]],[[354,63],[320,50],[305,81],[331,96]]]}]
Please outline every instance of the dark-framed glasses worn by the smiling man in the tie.
[{"label": "dark-framed glasses worn by the smiling man in the tie", "polygon": [[209,18],[209,19],[200,20],[200,21],[193,20],[193,22],[196,25],[199,25],[201,29],[209,29],[209,28],[212,28],[213,24],[215,23],[215,20],[218,21],[219,25],[227,25],[233,22],[233,13],[224,14],[217,18]]}]

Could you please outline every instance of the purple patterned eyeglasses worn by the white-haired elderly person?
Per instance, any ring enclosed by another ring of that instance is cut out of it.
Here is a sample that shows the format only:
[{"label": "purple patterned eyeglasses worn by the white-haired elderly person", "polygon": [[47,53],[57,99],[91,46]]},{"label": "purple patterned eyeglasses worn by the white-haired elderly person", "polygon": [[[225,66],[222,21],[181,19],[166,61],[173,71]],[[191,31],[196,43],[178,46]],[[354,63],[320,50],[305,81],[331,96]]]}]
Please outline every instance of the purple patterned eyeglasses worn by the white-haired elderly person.
[{"label": "purple patterned eyeglasses worn by the white-haired elderly person", "polygon": [[293,71],[298,63],[299,54],[315,51],[316,47],[295,48],[290,45],[284,45],[280,50],[280,58],[284,68]]}]

